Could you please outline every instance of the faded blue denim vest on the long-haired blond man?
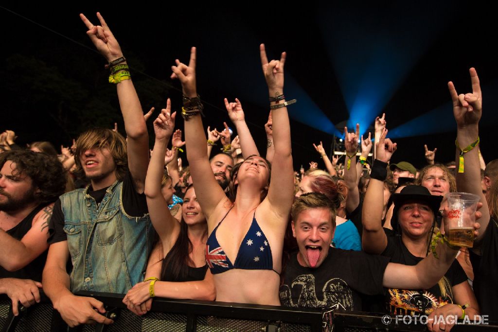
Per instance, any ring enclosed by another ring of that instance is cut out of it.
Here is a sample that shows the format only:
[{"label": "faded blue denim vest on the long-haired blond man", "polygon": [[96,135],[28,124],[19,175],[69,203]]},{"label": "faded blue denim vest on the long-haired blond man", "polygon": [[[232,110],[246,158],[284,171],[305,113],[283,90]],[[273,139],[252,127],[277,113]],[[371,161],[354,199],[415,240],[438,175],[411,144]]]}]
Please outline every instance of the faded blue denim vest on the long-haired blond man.
[{"label": "faded blue denim vest on the long-haired blond man", "polygon": [[71,291],[126,293],[143,280],[154,228],[147,215],[123,209],[123,182],[106,190],[98,206],[86,189],[60,197],[73,262]]}]

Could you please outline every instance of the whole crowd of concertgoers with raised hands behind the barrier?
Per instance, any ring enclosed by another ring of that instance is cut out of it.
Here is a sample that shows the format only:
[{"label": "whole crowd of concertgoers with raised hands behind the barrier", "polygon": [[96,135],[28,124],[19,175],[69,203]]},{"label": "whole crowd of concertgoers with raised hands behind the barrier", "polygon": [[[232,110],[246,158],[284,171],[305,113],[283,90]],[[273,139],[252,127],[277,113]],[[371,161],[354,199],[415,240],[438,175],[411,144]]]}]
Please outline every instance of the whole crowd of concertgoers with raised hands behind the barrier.
[{"label": "whole crowd of concertgoers with raised hands behind the barrier", "polygon": [[[264,156],[238,99],[225,99],[233,140],[227,123],[222,131],[204,129],[194,47],[188,62],[171,67],[182,87],[184,132],[175,130],[180,114],[168,99],[153,119],[149,150],[151,112],[144,115],[121,47],[97,16],[98,25],[81,19],[109,63],[126,137],[90,129],[58,153],[49,142],[21,148],[11,130],[0,135],[0,293],[14,315],[18,303],[39,302],[43,288],[71,327],[113,322],[103,303],[78,291],[125,294],[137,315],[156,296],[314,308],[324,311],[326,330],[334,310],[428,315],[430,331],[452,328],[440,315],[498,321],[498,160],[485,164],[479,153],[474,68],[472,93],[459,95],[448,83],[456,162],[434,163],[436,149],[426,146],[421,170],[389,164],[396,143],[383,114],[373,141],[360,137],[359,125],[345,128],[344,165],[320,142],[314,147],[323,169],[312,163],[299,174],[285,52],[268,61],[259,49],[270,104]],[[217,142],[223,151],[212,153]],[[472,248],[445,235],[447,195],[457,191],[480,197]]]}]

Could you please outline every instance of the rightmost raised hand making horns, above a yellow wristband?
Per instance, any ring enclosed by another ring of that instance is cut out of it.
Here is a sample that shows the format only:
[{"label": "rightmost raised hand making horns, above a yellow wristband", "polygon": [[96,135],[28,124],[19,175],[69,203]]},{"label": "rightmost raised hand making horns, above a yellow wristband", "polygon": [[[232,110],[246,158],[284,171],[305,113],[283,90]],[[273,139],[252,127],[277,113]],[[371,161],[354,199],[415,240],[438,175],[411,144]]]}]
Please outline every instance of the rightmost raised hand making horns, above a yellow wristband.
[{"label": "rightmost raised hand making horns, above a yellow wristband", "polygon": [[453,101],[453,115],[459,128],[477,125],[483,111],[483,97],[479,77],[477,76],[476,69],[471,68],[469,72],[472,82],[472,93],[459,95],[453,82],[448,82],[448,89],[450,90],[451,100]]}]

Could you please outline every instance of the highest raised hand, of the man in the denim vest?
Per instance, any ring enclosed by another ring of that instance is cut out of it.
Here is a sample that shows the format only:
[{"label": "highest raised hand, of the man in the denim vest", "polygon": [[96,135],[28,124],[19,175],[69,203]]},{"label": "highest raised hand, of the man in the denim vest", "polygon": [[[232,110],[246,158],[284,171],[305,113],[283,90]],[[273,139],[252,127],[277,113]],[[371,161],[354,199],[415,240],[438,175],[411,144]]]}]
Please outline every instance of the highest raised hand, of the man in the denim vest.
[{"label": "highest raised hand, of the man in the denim vest", "polygon": [[85,15],[80,14],[81,20],[88,28],[87,34],[90,40],[97,47],[97,50],[107,59],[108,62],[119,59],[123,56],[120,44],[109,29],[104,17],[97,12],[101,25],[93,25]]}]

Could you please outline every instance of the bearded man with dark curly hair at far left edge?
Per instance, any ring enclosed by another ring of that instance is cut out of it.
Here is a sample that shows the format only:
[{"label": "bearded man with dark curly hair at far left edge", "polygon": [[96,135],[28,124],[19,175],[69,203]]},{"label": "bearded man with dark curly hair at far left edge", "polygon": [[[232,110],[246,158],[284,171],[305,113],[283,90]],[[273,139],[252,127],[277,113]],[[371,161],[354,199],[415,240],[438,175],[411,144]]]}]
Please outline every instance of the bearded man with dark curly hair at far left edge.
[{"label": "bearded man with dark curly hair at far left edge", "polygon": [[40,301],[48,220],[66,185],[62,164],[45,153],[0,154],[0,293],[29,307]]}]

